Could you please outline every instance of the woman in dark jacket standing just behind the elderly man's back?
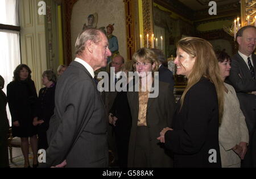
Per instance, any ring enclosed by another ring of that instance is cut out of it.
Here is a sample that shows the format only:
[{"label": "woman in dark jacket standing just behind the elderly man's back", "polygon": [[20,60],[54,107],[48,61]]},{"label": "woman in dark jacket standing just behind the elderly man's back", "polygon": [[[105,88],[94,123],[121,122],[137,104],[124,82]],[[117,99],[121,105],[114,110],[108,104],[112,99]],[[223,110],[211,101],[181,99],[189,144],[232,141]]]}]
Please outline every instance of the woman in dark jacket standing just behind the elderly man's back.
[{"label": "woman in dark jacket standing just behind the elderly man's back", "polygon": [[54,97],[56,75],[52,70],[43,72],[43,85],[46,86],[39,91],[39,100],[34,126],[38,126],[38,149],[47,149],[46,131],[49,128],[49,120],[54,113]]}]

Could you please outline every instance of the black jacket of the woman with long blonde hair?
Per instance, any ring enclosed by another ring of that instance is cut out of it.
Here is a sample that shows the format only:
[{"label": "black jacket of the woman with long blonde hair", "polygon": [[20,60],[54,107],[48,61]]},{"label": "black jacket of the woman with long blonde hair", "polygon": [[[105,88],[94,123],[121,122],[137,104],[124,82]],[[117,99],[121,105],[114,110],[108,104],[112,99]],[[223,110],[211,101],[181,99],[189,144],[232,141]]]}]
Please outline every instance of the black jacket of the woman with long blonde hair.
[{"label": "black jacket of the woman with long blonde hair", "polygon": [[[174,167],[221,167],[218,145],[218,99],[212,82],[202,78],[177,107],[173,131],[167,131],[165,146],[174,152]],[[216,163],[209,163],[210,149]]]}]

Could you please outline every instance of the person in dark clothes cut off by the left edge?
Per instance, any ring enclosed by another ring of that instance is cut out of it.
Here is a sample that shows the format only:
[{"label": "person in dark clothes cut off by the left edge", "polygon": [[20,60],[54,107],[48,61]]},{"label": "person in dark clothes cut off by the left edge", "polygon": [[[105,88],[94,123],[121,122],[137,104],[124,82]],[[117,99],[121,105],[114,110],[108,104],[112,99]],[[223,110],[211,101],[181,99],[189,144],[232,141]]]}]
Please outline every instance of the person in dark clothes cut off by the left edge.
[{"label": "person in dark clothes cut off by the left edge", "polygon": [[9,120],[6,114],[7,98],[2,91],[5,80],[0,75],[0,168],[9,167],[7,135],[9,131]]}]

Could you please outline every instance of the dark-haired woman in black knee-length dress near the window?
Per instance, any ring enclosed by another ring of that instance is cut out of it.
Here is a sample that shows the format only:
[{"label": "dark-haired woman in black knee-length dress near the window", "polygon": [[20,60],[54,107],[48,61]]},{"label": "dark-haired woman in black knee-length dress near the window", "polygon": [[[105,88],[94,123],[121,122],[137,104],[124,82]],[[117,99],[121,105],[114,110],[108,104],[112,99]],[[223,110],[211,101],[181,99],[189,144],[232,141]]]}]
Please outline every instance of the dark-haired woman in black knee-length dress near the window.
[{"label": "dark-haired woman in black knee-length dress near the window", "polygon": [[13,136],[21,139],[21,148],[24,156],[24,167],[30,167],[28,160],[28,137],[33,152],[33,166],[38,164],[38,140],[36,127],[33,126],[35,107],[38,97],[35,83],[31,80],[31,70],[25,64],[20,64],[14,70],[14,80],[7,85],[7,101],[13,122]]}]

